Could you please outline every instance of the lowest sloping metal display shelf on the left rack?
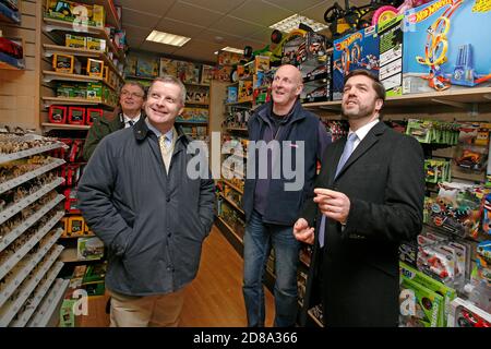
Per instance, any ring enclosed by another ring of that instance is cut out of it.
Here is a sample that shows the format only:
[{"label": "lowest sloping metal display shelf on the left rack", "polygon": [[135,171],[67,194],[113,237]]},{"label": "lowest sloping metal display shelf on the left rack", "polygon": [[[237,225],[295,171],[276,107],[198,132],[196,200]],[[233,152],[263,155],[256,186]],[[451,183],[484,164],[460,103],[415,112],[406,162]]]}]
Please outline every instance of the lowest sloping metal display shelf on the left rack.
[{"label": "lowest sloping metal display shelf on the left rack", "polygon": [[51,323],[51,320],[59,318],[59,314],[56,314],[56,312],[61,305],[69,285],[70,280],[64,280],[62,278],[55,280],[48,296],[45,297],[43,302],[39,304],[36,314],[27,323],[27,327],[48,327],[51,324],[53,327],[56,326],[55,323]]}]

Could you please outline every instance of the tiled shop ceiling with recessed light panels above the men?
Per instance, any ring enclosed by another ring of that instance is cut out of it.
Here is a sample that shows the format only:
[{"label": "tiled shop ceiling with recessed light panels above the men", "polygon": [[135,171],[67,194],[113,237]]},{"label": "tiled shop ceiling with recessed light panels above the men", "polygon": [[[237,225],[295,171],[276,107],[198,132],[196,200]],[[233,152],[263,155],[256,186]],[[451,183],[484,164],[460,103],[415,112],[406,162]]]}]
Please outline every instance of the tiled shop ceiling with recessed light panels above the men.
[{"label": "tiled shop ceiling with recessed light panels above the men", "polygon": [[[351,0],[350,5],[370,0]],[[324,23],[334,0],[115,0],[122,5],[122,26],[131,49],[214,63],[215,51],[231,46],[262,49],[270,43],[270,25],[295,13]],[[338,0],[344,8],[344,0]],[[145,41],[153,31],[191,37],[173,47]]]}]

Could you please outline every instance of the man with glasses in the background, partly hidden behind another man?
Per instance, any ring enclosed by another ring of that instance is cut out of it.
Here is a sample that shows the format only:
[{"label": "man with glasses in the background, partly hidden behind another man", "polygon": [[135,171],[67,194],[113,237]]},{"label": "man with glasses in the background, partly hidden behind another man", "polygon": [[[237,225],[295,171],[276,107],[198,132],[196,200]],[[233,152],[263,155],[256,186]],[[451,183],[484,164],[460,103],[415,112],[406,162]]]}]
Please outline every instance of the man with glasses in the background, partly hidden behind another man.
[{"label": "man with glasses in the background, partly hidden behind another man", "polygon": [[85,139],[83,156],[86,161],[91,158],[97,144],[109,133],[131,128],[142,117],[142,107],[145,101],[145,88],[136,83],[129,82],[121,87],[119,106],[111,117],[97,119],[88,130]]}]

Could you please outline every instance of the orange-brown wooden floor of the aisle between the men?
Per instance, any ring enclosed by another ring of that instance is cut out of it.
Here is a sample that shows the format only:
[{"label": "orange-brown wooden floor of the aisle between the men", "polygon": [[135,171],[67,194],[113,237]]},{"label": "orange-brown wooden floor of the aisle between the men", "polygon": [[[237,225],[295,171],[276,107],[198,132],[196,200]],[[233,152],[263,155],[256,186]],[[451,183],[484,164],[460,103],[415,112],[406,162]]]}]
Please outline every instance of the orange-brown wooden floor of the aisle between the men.
[{"label": "orange-brown wooden floor of the aisle between the men", "polygon": [[[197,277],[187,291],[181,326],[246,326],[242,267],[242,257],[214,226],[203,245]],[[265,298],[266,326],[270,327],[274,318],[274,301],[267,289]]]}]

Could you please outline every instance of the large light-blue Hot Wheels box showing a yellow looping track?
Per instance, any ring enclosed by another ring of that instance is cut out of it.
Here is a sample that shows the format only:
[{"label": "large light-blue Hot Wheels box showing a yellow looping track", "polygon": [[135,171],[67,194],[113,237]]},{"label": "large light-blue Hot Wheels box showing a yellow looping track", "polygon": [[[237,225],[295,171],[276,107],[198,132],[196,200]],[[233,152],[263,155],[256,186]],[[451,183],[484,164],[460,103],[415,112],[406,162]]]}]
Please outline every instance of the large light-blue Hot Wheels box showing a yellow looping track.
[{"label": "large light-blue Hot Wheels box showing a yellow looping track", "polygon": [[491,86],[491,7],[435,0],[406,11],[403,94]]}]

